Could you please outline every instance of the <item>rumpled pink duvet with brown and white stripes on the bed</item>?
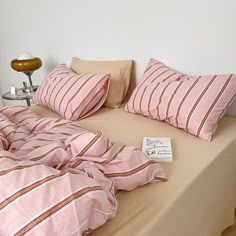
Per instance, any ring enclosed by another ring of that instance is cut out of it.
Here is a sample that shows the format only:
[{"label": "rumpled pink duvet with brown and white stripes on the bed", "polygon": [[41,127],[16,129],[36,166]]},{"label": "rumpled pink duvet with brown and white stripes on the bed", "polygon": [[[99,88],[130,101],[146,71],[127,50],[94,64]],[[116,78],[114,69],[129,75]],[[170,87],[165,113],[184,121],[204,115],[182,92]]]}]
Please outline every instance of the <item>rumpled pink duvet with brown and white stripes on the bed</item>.
[{"label": "rumpled pink duvet with brown and white stripes on the bed", "polygon": [[86,235],[115,216],[118,190],[166,180],[135,147],[78,123],[0,109],[0,235]]}]

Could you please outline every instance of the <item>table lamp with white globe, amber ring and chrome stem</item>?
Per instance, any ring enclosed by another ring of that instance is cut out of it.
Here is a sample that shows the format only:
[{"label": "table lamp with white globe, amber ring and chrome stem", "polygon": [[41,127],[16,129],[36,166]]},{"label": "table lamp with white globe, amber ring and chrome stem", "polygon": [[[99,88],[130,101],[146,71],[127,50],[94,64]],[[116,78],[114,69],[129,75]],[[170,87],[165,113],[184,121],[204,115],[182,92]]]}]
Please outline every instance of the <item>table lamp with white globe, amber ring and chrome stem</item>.
[{"label": "table lamp with white globe, amber ring and chrome stem", "polygon": [[[39,69],[42,66],[42,61],[38,57],[33,57],[31,53],[29,52],[23,52],[21,53],[17,59],[14,59],[11,61],[11,67],[12,69],[25,73],[29,78],[29,90],[30,91],[36,91],[37,87],[33,86],[31,75],[33,72],[37,69]],[[24,89],[27,89],[27,85],[24,82]],[[24,91],[24,90],[23,90]]]}]

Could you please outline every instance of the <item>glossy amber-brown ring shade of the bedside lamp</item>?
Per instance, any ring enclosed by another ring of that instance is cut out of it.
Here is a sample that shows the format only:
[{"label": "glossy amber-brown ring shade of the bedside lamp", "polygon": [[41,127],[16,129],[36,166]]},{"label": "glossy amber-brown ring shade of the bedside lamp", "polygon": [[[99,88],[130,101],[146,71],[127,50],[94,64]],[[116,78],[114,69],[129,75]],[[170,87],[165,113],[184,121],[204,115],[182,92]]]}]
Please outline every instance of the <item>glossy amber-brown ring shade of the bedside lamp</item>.
[{"label": "glossy amber-brown ring shade of the bedside lamp", "polygon": [[27,59],[27,60],[14,59],[11,61],[12,69],[18,72],[34,71],[39,69],[41,66],[42,66],[42,61],[38,57],[34,57],[32,59]]}]

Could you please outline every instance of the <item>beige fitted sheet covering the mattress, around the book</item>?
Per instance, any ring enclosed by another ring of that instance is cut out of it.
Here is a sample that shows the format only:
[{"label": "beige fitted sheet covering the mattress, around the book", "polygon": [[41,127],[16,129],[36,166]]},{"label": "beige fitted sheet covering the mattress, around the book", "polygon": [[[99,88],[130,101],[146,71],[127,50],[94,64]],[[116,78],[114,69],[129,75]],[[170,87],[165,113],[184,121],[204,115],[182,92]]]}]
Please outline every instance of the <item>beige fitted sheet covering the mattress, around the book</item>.
[{"label": "beige fitted sheet covering the mattress, around the book", "polygon": [[[34,105],[43,117],[59,117]],[[102,108],[78,121],[112,141],[141,148],[144,136],[170,137],[174,161],[161,163],[168,181],[119,192],[118,213],[92,236],[219,236],[234,223],[236,207],[236,119],[224,116],[211,142],[167,123]]]}]

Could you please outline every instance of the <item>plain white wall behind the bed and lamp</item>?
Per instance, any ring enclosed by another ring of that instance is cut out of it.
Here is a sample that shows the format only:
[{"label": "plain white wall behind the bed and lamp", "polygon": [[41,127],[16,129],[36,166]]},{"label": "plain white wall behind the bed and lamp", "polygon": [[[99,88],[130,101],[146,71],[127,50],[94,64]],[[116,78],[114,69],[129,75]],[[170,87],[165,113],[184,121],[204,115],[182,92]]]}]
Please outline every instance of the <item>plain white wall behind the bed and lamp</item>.
[{"label": "plain white wall behind the bed and lamp", "polygon": [[26,79],[10,67],[24,50],[43,61],[35,84],[73,56],[134,59],[137,80],[150,57],[193,75],[236,72],[235,0],[2,0],[0,26],[2,93]]}]

